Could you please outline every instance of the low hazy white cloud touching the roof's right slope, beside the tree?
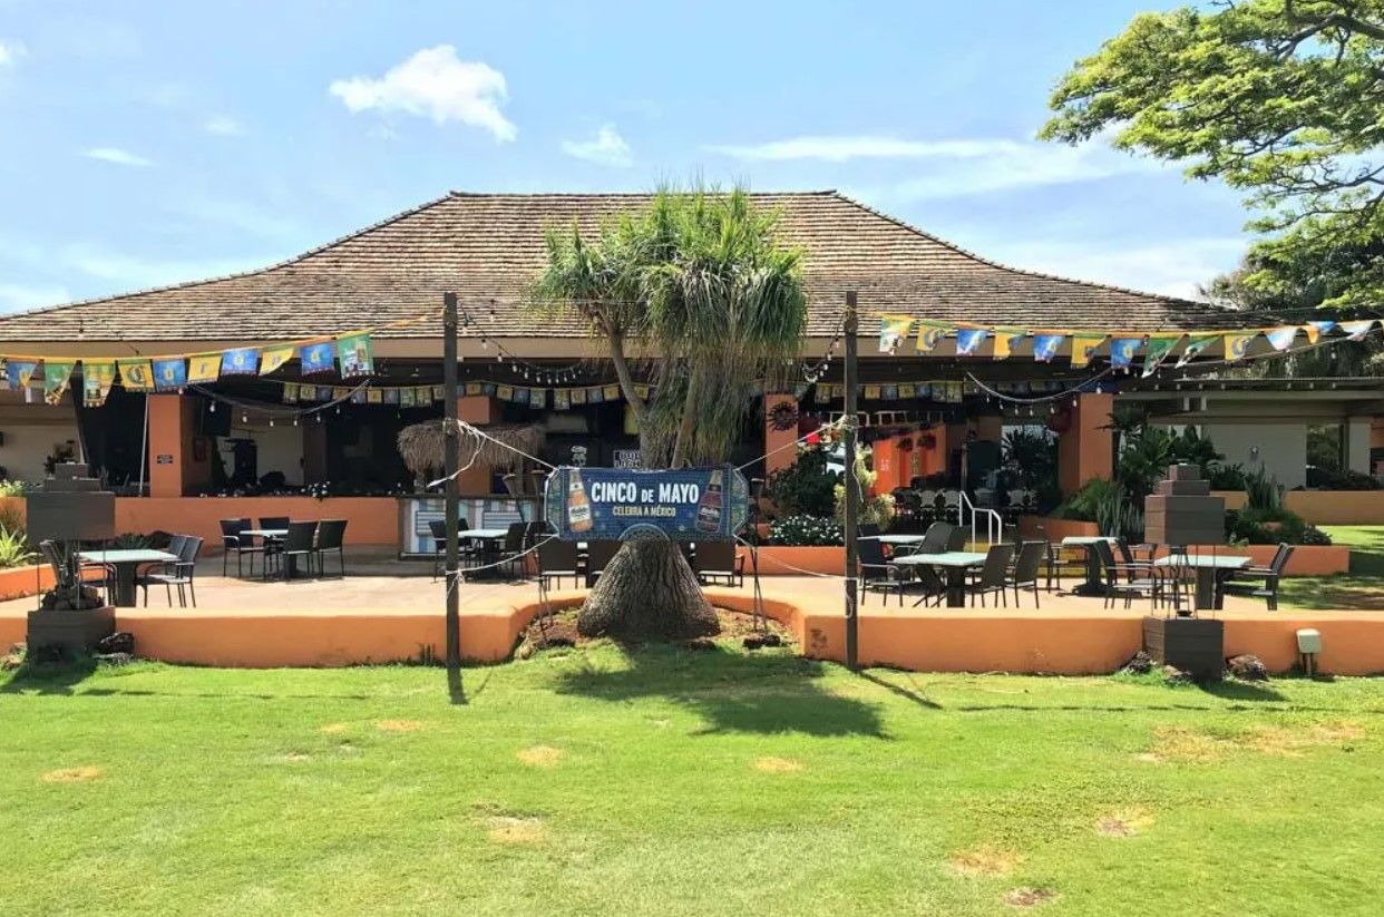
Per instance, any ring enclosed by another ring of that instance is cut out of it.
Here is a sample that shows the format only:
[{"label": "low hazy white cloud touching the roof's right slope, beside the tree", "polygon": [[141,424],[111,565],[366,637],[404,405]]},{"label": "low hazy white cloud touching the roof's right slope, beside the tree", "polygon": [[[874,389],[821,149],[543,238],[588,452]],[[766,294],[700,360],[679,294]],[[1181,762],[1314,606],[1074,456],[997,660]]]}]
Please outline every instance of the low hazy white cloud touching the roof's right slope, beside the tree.
[{"label": "low hazy white cloud touching the roof's right slope, beside the tree", "polygon": [[1235,268],[1247,245],[1247,239],[1235,237],[1136,245],[1100,241],[1006,243],[991,239],[981,250],[985,257],[1030,271],[1200,299],[1197,285]]}]

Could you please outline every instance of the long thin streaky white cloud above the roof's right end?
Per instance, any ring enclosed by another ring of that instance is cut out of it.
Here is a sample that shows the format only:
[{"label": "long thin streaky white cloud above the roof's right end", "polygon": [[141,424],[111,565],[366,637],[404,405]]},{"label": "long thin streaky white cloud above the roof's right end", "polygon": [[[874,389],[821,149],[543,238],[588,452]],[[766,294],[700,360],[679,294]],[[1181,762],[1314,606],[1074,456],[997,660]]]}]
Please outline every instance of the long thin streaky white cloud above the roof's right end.
[{"label": "long thin streaky white cloud above the roof's right end", "polygon": [[1008,138],[900,140],[880,136],[793,137],[754,145],[713,145],[709,152],[746,162],[919,160],[926,173],[862,189],[897,206],[1010,188],[1062,185],[1169,167],[1111,149],[1103,138],[1081,147]]}]

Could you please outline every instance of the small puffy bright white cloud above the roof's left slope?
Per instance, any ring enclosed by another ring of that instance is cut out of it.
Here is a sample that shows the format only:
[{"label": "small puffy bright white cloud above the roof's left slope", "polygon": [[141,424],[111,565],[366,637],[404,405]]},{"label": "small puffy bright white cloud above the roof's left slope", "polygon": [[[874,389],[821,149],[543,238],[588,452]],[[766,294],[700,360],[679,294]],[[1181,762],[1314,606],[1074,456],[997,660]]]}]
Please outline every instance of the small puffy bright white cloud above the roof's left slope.
[{"label": "small puffy bright white cloud above the roof's left slope", "polygon": [[480,61],[458,59],[450,44],[424,48],[379,79],[336,80],[329,91],[352,112],[404,112],[437,124],[459,122],[483,127],[498,141],[519,133],[500,112],[508,98],[504,73]]}]

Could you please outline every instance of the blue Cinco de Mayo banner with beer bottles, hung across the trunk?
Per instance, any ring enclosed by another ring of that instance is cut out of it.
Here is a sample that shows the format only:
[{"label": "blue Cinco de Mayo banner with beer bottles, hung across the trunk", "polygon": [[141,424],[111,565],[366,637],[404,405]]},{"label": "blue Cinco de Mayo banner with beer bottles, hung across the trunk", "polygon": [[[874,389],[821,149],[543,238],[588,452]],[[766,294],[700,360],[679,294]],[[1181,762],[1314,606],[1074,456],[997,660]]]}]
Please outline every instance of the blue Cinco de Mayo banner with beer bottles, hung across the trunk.
[{"label": "blue Cinco de Mayo banner with beer bottles, hung across the trunk", "polygon": [[544,494],[544,519],[563,541],[731,541],[749,516],[749,481],[731,465],[559,467]]}]

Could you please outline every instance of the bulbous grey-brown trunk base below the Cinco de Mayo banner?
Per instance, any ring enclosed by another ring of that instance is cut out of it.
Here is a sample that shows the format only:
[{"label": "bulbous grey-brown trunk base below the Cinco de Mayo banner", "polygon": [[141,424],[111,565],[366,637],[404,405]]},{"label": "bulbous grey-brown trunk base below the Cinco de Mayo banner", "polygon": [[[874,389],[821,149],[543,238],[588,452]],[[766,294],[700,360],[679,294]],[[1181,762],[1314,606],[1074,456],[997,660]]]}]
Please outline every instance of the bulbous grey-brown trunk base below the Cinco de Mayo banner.
[{"label": "bulbous grey-brown trunk base below the Cinco de Mayo banner", "polygon": [[581,613],[581,636],[691,640],[720,633],[711,603],[671,541],[627,541],[601,573]]}]

